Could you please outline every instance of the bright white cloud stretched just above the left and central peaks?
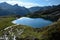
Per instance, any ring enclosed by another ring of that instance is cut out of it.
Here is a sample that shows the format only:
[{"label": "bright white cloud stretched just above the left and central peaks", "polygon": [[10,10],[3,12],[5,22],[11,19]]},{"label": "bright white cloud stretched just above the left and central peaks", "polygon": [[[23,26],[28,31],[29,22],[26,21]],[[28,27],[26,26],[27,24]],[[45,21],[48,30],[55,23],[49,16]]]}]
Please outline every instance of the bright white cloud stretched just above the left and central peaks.
[{"label": "bright white cloud stretched just above the left and central peaks", "polygon": [[40,4],[37,4],[37,3],[31,3],[31,2],[22,2],[22,1],[6,1],[7,3],[9,4],[18,4],[20,6],[24,6],[24,7],[32,7],[32,6],[43,6],[43,5],[40,5]]}]

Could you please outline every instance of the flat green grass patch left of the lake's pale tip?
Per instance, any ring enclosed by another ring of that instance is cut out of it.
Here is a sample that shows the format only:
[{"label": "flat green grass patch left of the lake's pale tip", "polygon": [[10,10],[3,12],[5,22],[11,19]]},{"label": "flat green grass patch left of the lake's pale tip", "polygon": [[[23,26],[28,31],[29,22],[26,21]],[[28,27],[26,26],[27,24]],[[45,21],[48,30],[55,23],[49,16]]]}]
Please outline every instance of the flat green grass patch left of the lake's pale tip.
[{"label": "flat green grass patch left of the lake's pale tip", "polygon": [[0,17],[0,30],[13,25],[11,21],[14,19],[15,19],[14,17],[10,17],[10,16]]}]

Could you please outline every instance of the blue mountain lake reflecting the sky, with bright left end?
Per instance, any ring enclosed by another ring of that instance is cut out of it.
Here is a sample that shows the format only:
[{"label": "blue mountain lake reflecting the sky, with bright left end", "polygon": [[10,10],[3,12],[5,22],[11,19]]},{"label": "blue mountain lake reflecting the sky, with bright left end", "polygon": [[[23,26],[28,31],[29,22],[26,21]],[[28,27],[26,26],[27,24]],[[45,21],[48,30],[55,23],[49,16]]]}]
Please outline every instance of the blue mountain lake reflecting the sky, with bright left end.
[{"label": "blue mountain lake reflecting the sky, with bright left end", "polygon": [[21,17],[17,20],[12,21],[14,24],[21,24],[21,25],[27,25],[34,28],[40,28],[44,26],[48,26],[52,24],[52,21],[45,20],[43,18],[28,18],[28,17]]}]

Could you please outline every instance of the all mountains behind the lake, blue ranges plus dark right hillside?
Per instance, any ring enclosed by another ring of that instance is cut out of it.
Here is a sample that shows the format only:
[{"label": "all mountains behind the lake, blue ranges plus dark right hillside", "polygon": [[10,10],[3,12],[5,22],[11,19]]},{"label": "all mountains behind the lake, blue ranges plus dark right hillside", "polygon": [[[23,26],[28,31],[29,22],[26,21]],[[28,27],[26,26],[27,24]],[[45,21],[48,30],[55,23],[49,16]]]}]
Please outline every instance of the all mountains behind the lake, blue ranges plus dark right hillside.
[{"label": "all mountains behind the lake, blue ranges plus dark right hillside", "polygon": [[6,2],[0,3],[0,16],[4,15],[29,15],[30,17],[43,17],[45,19],[58,19],[60,17],[60,5],[25,8],[18,4],[10,5]]}]

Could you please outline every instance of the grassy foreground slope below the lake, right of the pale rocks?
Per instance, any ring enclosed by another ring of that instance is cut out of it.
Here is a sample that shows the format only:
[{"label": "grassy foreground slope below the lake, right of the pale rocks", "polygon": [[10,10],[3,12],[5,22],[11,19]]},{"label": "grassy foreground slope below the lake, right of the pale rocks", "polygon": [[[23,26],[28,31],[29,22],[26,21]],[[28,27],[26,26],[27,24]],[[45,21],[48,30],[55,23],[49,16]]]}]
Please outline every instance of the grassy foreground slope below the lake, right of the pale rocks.
[{"label": "grassy foreground slope below the lake, right of the pale rocks", "polygon": [[28,26],[16,26],[16,28],[24,29],[19,40],[60,40],[60,21],[54,22],[52,25],[43,28],[31,28]]}]

